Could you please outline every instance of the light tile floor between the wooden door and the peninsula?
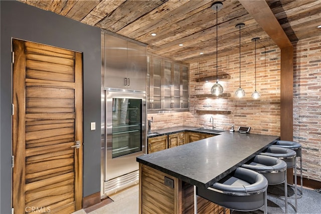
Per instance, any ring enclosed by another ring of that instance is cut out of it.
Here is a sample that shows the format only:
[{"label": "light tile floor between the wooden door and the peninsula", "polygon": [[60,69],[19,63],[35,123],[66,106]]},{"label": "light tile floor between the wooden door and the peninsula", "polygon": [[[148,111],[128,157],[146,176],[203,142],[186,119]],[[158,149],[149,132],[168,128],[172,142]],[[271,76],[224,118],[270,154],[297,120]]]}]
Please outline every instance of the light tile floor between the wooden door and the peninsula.
[{"label": "light tile floor between the wooden door and the peninsula", "polygon": [[[89,212],[90,214],[137,214],[138,213],[138,185],[134,185],[119,193],[109,196],[114,202]],[[80,209],[73,214],[86,214]]]}]

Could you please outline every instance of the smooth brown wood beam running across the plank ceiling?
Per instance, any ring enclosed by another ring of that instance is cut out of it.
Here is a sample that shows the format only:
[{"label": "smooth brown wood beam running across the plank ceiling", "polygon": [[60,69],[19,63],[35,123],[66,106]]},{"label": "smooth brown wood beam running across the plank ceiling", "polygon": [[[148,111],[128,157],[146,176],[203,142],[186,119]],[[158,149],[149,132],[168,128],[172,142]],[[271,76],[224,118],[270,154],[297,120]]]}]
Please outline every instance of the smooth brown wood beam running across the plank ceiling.
[{"label": "smooth brown wood beam running across the plank ceiling", "polygon": [[239,0],[239,2],[280,49],[292,47],[290,40],[265,0]]}]

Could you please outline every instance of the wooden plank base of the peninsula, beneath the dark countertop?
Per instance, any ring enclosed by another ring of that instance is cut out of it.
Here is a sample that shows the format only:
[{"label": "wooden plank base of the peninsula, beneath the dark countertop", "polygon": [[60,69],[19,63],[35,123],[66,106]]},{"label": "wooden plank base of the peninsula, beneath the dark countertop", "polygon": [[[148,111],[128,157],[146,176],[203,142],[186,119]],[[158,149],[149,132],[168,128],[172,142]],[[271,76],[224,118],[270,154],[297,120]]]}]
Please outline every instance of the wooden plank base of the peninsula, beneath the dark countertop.
[{"label": "wooden plank base of the peninsula, beneath the dark countertop", "polygon": [[[198,196],[198,213],[224,209]],[[194,186],[139,163],[139,213],[194,213]],[[226,213],[230,213],[226,209]]]}]

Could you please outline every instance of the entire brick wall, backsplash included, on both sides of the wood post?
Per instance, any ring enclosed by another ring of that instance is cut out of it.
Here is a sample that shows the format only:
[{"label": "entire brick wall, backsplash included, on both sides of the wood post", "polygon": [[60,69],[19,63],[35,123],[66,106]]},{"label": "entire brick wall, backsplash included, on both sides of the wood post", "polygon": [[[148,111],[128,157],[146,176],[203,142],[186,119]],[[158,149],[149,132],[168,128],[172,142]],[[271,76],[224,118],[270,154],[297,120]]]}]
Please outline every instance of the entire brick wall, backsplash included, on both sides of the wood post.
[{"label": "entire brick wall, backsplash included, on both sides of the wood post", "polygon": [[[294,46],[293,140],[302,144],[303,176],[321,181],[321,36],[299,41]],[[152,129],[178,125],[207,128],[211,116],[217,129],[229,130],[232,125],[251,127],[251,133],[280,135],[280,50],[277,46],[256,50],[256,89],[261,97],[253,100],[255,90],[254,51],[241,52],[241,87],[244,98],[236,98],[239,87],[239,55],[218,59],[219,74],[231,79],[219,81],[227,98],[197,98],[210,94],[216,81],[196,82],[196,78],[216,75],[216,60],[190,65],[190,111],[183,113],[148,114],[153,116]],[[197,109],[228,110],[230,115],[199,114]]]}]

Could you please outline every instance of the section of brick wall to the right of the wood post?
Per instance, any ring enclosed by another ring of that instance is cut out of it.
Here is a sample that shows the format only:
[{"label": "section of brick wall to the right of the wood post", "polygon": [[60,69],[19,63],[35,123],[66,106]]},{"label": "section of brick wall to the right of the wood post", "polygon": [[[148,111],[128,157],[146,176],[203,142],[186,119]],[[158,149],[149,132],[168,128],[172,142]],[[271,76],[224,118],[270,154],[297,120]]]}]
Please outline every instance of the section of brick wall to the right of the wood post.
[{"label": "section of brick wall to the right of the wood post", "polygon": [[321,181],[321,36],[294,45],[293,140],[302,145],[303,176]]}]

